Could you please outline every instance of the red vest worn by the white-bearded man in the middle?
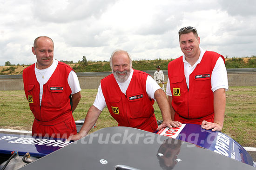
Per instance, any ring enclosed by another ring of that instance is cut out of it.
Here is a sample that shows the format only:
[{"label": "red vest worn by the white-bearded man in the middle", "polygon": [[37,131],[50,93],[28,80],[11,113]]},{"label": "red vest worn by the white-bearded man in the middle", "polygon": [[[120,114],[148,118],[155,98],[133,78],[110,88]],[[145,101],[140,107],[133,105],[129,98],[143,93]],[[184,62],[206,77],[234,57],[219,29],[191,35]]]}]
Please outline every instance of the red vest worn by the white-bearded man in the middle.
[{"label": "red vest worn by the white-bearded man in the middle", "polygon": [[154,100],[146,92],[148,74],[134,69],[126,94],[121,92],[113,74],[101,80],[101,89],[108,111],[118,126],[128,126],[154,132],[157,123]]}]

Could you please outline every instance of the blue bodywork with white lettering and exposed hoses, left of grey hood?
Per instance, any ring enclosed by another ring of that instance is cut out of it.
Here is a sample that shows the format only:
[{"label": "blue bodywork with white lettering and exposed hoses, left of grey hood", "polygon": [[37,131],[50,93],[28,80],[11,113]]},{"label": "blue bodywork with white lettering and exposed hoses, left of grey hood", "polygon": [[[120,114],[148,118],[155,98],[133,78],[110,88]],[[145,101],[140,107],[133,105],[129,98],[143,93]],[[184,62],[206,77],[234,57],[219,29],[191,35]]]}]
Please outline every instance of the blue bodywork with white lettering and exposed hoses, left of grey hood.
[{"label": "blue bodywork with white lettering and exposed hoses, left of grey hood", "polygon": [[65,139],[0,133],[0,170],[17,170],[70,143]]}]

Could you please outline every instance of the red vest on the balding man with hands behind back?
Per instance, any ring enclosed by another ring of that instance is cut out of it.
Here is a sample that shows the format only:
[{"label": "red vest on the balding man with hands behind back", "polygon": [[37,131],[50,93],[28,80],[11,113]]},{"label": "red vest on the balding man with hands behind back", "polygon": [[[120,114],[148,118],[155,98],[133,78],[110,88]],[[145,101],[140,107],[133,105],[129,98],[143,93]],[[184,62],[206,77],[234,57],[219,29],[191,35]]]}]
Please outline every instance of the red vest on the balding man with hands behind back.
[{"label": "red vest on the balding man with hands behind back", "polygon": [[36,79],[34,67],[35,64],[23,70],[23,82],[27,101],[35,119],[47,126],[67,120],[72,116],[71,89],[67,82],[72,68],[65,63],[58,63],[53,75],[43,85],[40,107],[40,84]]}]

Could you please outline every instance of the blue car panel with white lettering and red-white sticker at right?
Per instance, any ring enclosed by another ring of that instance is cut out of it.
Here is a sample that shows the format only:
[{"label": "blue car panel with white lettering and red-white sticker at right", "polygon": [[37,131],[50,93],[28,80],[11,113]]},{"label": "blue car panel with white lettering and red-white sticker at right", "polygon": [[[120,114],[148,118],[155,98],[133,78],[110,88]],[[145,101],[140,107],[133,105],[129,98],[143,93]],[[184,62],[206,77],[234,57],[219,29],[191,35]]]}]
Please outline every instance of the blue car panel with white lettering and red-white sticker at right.
[{"label": "blue car panel with white lettering and red-white sticker at right", "polygon": [[178,127],[163,128],[156,133],[199,145],[226,157],[256,167],[256,163],[249,153],[234,139],[222,132],[205,130],[200,125],[182,124]]}]

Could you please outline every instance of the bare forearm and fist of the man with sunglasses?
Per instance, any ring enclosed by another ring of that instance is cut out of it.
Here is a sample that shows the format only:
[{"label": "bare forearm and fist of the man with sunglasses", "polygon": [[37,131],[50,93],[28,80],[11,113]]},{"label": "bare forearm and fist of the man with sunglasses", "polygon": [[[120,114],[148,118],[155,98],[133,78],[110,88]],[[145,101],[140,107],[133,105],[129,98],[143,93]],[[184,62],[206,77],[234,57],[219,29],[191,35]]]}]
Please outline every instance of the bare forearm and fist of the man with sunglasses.
[{"label": "bare forearm and fist of the man with sunglasses", "polygon": [[213,92],[214,96],[214,123],[203,120],[203,129],[212,129],[212,131],[221,131],[224,122],[224,113],[226,107],[226,91],[224,88],[217,89]]}]

